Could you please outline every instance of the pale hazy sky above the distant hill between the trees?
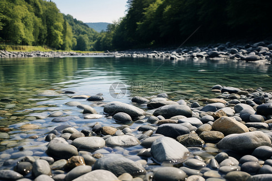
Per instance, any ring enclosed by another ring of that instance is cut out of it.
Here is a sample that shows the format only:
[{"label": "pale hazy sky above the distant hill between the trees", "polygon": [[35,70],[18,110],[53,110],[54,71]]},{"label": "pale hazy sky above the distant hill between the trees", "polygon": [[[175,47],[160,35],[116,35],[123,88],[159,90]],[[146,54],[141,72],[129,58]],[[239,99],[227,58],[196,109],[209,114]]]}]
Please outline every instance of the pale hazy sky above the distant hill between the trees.
[{"label": "pale hazy sky above the distant hill between the trees", "polygon": [[125,15],[127,0],[52,0],[61,13],[84,23],[112,23]]}]

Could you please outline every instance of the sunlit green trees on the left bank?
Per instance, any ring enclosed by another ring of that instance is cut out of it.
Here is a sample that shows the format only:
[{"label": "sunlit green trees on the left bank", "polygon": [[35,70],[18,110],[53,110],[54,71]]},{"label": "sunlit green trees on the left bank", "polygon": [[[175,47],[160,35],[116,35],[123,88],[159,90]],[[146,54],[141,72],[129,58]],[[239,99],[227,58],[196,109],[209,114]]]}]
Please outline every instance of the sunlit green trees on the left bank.
[{"label": "sunlit green trees on the left bank", "polygon": [[46,0],[0,0],[0,41],[57,50],[93,50],[98,32]]}]

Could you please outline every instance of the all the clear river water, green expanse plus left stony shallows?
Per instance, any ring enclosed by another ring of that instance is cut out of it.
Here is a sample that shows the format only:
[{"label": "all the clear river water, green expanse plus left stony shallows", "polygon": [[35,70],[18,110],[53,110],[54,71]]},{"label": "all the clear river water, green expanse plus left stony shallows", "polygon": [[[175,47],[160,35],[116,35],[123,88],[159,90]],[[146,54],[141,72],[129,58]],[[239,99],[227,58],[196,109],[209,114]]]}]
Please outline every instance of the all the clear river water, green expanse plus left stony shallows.
[{"label": "all the clear river water, green expanse plus left stony shallows", "polygon": [[[88,126],[95,122],[101,122],[104,126],[118,126],[115,121],[104,117],[84,120],[82,109],[64,105],[69,101],[86,105],[93,102],[72,99],[71,94],[37,96],[41,90],[72,90],[76,92],[73,95],[103,93],[104,102],[121,101],[131,104],[130,98],[133,96],[166,92],[171,100],[193,102],[218,96],[219,94],[211,91],[216,84],[272,90],[271,83],[272,65],[243,61],[113,57],[0,59],[0,99],[8,97],[14,100],[12,103],[0,102],[0,111],[7,111],[0,114],[0,131],[4,132],[3,128],[9,128],[6,132],[10,135],[9,139],[0,140],[0,154],[14,153],[24,147],[24,150],[33,151],[34,156],[44,156],[46,133],[61,124],[77,126],[79,131],[90,130]],[[116,86],[119,86],[118,89],[115,89]],[[15,108],[6,109],[5,106],[9,104],[15,104]],[[93,107],[98,114],[103,114],[103,107]],[[48,116],[56,110],[64,112],[64,115],[78,116],[78,119],[64,123],[51,122],[53,118],[50,117],[29,121],[30,116]],[[39,125],[40,129],[20,130],[19,127],[26,122]],[[131,129],[137,126],[139,124],[132,124]],[[29,138],[34,135],[38,138]],[[136,146],[126,150],[140,148]],[[150,160],[149,162],[151,163]]]}]

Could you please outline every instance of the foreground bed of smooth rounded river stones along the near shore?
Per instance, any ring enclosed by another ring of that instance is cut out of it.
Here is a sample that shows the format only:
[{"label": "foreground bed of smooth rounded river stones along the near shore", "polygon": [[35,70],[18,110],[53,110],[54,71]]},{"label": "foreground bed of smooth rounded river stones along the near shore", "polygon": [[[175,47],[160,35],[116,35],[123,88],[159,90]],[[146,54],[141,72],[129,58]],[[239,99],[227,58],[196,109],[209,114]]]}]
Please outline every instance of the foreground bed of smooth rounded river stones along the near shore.
[{"label": "foreground bed of smooth rounded river stones along the near shore", "polygon": [[216,98],[172,101],[160,93],[130,104],[42,91],[37,96],[75,101],[1,129],[0,180],[272,180],[272,91],[211,91]]}]

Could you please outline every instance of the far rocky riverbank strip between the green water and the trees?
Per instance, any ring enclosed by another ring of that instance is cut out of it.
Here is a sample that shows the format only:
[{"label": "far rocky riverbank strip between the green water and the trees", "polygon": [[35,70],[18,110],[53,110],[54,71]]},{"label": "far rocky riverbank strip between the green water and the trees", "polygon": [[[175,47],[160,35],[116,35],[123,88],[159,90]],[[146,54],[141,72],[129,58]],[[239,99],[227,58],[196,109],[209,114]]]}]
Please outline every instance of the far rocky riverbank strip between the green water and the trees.
[{"label": "far rocky riverbank strip between the green water and the trees", "polygon": [[215,44],[182,48],[164,48],[156,50],[127,50],[107,53],[76,52],[8,52],[0,51],[0,57],[65,57],[65,56],[115,56],[115,57],[150,57],[169,60],[226,59],[245,60],[259,63],[271,63],[272,42],[263,41],[255,44]]}]

